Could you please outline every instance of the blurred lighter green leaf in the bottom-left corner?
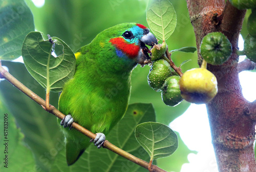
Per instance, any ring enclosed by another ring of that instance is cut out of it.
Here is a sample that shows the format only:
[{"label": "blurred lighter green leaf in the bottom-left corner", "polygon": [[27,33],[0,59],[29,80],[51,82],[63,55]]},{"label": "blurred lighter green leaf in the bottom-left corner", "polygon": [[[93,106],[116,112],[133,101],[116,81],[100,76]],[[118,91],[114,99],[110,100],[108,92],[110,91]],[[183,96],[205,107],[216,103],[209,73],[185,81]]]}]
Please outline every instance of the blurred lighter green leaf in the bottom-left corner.
[{"label": "blurred lighter green leaf in the bottom-left corner", "polygon": [[24,145],[24,135],[3,100],[0,92],[0,171],[32,171],[35,166],[32,152]]}]

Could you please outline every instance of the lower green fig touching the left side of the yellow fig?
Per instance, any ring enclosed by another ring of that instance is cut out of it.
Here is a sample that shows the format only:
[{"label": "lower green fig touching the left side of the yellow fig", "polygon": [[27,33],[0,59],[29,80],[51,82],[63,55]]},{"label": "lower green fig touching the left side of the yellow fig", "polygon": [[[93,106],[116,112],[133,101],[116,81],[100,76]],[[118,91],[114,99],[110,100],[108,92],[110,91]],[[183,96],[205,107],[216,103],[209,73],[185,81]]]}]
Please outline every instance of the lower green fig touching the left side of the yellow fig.
[{"label": "lower green fig touching the left side of the yellow fig", "polygon": [[183,100],[180,94],[179,80],[179,76],[170,76],[164,81],[162,100],[166,105],[175,106]]}]

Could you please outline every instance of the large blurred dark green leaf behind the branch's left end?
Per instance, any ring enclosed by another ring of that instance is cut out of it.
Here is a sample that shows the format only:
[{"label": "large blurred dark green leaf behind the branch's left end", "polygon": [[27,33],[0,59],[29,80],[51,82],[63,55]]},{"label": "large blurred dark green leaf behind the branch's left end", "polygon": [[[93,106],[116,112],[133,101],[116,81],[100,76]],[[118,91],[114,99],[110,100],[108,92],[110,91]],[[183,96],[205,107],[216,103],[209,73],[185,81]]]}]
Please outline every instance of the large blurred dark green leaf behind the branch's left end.
[{"label": "large blurred dark green leaf behind the branch's left end", "polygon": [[[3,61],[2,65],[7,66],[9,72],[35,94],[45,97],[45,89],[29,74],[23,63]],[[4,100],[0,99],[5,101],[25,135],[24,141],[33,151],[37,168],[48,171],[57,152],[64,149],[56,117],[6,80],[0,82],[0,92]],[[50,103],[58,106],[58,93],[51,93]]]}]

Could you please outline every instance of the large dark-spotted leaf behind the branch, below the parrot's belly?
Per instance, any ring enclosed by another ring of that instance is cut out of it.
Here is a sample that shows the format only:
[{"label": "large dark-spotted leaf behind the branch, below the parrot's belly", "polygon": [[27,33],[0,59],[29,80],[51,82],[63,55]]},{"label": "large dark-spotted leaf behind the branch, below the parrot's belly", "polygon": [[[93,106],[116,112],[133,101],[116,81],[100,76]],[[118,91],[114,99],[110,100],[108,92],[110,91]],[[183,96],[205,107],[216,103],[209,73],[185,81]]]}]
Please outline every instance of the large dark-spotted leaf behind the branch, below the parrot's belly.
[{"label": "large dark-spotted leaf behind the branch, below the parrot's belly", "polygon": [[[151,103],[130,104],[124,117],[114,126],[106,139],[126,152],[149,161],[145,150],[136,141],[134,130],[137,124],[146,121],[156,121],[155,111]],[[84,136],[86,137],[86,136]],[[154,161],[155,162],[155,161]],[[86,164],[86,165],[85,165]],[[99,165],[100,164],[100,165]],[[66,162],[65,150],[59,152],[51,171],[148,171],[147,169],[124,159],[108,149],[97,149],[93,144],[72,166]]]}]

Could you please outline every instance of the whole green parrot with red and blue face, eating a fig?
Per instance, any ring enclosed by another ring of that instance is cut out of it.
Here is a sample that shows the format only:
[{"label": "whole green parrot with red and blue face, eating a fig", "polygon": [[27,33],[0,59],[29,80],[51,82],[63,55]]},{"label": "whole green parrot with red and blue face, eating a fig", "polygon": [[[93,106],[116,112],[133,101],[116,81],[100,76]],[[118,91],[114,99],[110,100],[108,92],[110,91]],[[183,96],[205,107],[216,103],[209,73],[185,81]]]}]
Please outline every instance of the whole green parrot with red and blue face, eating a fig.
[{"label": "whole green parrot with red and blue face, eating a fig", "polygon": [[156,37],[145,26],[123,23],[100,32],[75,53],[75,74],[65,84],[58,106],[67,115],[59,122],[64,126],[61,130],[68,165],[75,163],[90,144],[88,137],[68,127],[75,121],[97,133],[94,143],[100,148],[104,134],[109,133],[127,109],[132,70],[150,59],[145,45],[155,44]]}]

